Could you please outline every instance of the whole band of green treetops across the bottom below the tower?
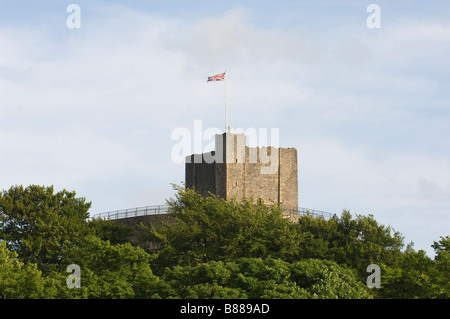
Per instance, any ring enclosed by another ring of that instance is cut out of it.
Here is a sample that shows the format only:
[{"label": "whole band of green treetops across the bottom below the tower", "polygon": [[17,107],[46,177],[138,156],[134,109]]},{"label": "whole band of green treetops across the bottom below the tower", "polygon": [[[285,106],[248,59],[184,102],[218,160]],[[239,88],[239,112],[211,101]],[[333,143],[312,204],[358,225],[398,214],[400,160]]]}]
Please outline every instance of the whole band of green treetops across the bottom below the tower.
[{"label": "whole band of green treetops across the bottom below the tower", "polygon": [[[449,236],[433,243],[431,259],[412,244],[402,250],[402,235],[372,215],[292,222],[261,200],[176,191],[175,222],[138,234],[89,219],[90,203],[75,192],[0,192],[0,297],[450,298]],[[67,287],[70,264],[80,288]],[[381,267],[380,289],[366,286],[370,264]]]}]

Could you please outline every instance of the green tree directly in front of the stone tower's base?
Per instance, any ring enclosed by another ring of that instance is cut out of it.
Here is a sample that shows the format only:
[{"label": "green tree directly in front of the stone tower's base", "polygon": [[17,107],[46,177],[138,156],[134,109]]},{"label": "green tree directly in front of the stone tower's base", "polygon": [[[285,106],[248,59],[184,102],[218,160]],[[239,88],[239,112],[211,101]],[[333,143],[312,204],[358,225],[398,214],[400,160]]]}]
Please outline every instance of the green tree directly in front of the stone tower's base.
[{"label": "green tree directly in front of the stone tower's base", "polygon": [[176,223],[144,227],[145,240],[162,247],[159,266],[295,254],[299,234],[277,205],[204,198],[190,189],[177,190],[176,199],[169,201]]}]

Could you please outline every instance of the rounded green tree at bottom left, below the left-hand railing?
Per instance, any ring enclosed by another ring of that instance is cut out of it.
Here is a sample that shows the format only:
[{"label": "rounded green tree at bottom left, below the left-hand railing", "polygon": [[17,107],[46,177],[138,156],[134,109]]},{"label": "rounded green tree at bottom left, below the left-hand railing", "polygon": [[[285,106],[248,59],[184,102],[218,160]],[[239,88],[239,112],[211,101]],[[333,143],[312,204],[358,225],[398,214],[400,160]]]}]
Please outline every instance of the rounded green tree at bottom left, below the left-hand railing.
[{"label": "rounded green tree at bottom left, below the left-hand railing", "polygon": [[65,259],[80,267],[81,287],[68,288],[69,274],[56,269],[49,277],[59,283],[58,298],[147,298],[158,281],[150,268],[153,257],[130,243],[112,245],[90,236],[66,252]]}]

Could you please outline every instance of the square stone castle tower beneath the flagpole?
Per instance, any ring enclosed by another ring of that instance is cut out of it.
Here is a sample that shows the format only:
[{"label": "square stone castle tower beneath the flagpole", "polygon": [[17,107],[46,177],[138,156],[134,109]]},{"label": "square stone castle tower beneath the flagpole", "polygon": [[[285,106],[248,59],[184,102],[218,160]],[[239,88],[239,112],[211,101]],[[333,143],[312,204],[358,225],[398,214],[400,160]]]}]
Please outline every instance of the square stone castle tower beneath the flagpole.
[{"label": "square stone castle tower beneath the flagpole", "polygon": [[215,136],[215,151],[186,157],[186,188],[225,199],[261,197],[298,208],[297,150],[248,147],[244,134]]}]

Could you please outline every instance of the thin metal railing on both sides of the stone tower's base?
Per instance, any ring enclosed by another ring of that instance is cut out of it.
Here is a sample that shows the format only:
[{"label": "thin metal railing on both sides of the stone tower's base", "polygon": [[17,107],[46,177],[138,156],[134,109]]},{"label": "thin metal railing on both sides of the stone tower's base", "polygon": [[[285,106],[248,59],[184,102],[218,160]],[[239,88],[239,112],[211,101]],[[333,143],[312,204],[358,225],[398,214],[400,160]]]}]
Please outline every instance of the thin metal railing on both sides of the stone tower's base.
[{"label": "thin metal railing on both sides of the stone tower's base", "polygon": [[[131,218],[138,216],[147,216],[147,215],[157,215],[157,214],[167,214],[169,212],[169,205],[154,205],[154,206],[143,206],[129,209],[121,209],[114,210],[105,213],[99,213],[92,216],[92,218],[102,218],[107,220],[121,219],[121,218]],[[288,215],[298,215],[298,216],[306,216],[311,215],[316,218],[332,218],[333,214],[324,212],[316,209],[309,208],[301,208],[298,209],[287,209],[284,211],[285,214]]]}]

